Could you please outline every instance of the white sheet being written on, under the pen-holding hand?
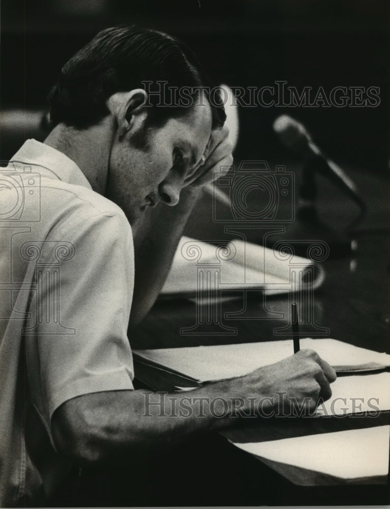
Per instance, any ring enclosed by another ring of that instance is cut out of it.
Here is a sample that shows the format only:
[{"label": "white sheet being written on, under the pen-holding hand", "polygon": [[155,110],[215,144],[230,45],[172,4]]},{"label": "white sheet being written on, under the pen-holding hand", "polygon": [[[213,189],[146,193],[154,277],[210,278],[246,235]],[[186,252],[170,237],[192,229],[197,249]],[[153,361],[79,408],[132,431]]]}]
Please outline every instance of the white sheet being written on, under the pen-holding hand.
[{"label": "white sheet being written on, under the pen-holding hand", "polygon": [[331,389],[331,398],[318,407],[318,415],[390,410],[390,373],[339,377]]}]

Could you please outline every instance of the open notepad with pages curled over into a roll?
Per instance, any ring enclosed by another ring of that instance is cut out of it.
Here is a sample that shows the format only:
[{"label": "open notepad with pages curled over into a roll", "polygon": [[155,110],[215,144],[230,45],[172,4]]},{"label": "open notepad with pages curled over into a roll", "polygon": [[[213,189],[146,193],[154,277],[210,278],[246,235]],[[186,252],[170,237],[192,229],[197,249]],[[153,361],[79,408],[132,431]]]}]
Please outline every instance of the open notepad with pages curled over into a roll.
[{"label": "open notepad with pages curled over into a roll", "polygon": [[322,266],[307,258],[241,240],[224,247],[182,237],[160,295],[200,297],[207,284],[224,295],[245,289],[273,295],[315,289],[324,279]]}]

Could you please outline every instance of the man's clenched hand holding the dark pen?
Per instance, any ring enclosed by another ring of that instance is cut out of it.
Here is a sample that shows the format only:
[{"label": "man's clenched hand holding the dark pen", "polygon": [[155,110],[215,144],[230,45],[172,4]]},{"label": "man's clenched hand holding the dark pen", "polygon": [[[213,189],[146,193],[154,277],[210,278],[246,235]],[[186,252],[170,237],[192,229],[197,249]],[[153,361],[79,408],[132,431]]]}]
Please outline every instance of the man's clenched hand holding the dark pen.
[{"label": "man's clenched hand holding the dark pen", "polygon": [[[269,414],[269,409],[278,411],[279,415],[293,415],[291,410],[302,405],[309,412],[314,412],[321,398],[331,397],[330,383],[336,380],[333,368],[313,350],[300,350],[295,355],[280,362],[246,375],[251,395],[258,400],[264,398],[262,409]],[[278,395],[279,393],[279,395]],[[281,397],[284,393],[284,397]],[[280,408],[283,401],[283,408]]]}]

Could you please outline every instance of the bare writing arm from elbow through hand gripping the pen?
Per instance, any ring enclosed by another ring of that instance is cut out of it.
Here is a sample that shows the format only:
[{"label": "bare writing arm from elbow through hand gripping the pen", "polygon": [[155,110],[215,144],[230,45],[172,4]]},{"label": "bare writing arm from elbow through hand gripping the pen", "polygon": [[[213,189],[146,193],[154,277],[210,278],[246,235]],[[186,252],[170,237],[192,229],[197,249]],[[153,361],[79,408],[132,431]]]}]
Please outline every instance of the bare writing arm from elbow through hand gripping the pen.
[{"label": "bare writing arm from elbow through hand gripping the pen", "polygon": [[[73,398],[54,412],[52,435],[58,450],[79,463],[126,461],[244,416],[269,417],[274,409],[294,415],[294,405],[310,415],[320,394],[330,398],[329,383],[335,380],[335,370],[316,352],[301,350],[243,377],[190,392],[123,390]],[[281,402],[280,394],[287,400]]]}]

